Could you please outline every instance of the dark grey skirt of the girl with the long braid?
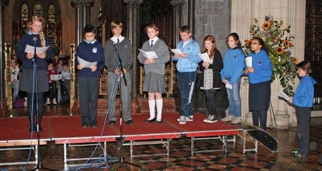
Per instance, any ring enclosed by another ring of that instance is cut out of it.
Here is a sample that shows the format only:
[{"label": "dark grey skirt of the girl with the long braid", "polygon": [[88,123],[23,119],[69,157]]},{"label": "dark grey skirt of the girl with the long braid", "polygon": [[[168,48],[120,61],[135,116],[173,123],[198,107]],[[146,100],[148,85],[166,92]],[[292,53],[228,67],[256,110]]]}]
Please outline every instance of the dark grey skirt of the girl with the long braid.
[{"label": "dark grey skirt of the girl with the long braid", "polygon": [[33,85],[35,93],[48,92],[49,90],[47,70],[37,70],[37,89],[36,84],[33,82],[33,70],[23,69],[19,78],[19,90],[21,91],[33,92]]}]

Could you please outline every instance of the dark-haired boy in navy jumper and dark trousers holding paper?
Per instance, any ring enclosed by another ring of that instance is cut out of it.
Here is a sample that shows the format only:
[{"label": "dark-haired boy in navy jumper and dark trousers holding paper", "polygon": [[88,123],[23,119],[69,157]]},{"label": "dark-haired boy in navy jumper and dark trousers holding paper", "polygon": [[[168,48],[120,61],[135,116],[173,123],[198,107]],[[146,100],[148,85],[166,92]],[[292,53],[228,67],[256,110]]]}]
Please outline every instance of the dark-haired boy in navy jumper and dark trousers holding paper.
[{"label": "dark-haired boy in navy jumper and dark trousers holding paper", "polygon": [[86,25],[83,30],[85,41],[79,43],[76,56],[96,65],[84,67],[75,60],[78,70],[79,106],[81,107],[82,127],[97,128],[97,100],[99,95],[99,79],[104,69],[105,56],[101,42],[95,39],[96,28]]}]

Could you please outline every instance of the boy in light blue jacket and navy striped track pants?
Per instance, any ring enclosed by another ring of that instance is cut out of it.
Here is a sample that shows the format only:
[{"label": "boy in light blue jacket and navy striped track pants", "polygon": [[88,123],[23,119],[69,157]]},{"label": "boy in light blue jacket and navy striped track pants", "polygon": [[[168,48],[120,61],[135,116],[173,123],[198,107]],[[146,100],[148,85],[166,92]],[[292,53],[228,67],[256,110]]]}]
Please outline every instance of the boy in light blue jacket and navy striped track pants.
[{"label": "boy in light blue jacket and navy striped track pants", "polygon": [[181,95],[181,113],[177,120],[179,124],[186,124],[186,121],[193,121],[191,99],[196,81],[198,63],[201,61],[200,46],[198,42],[191,38],[189,26],[180,28],[180,38],[177,49],[182,54],[174,56],[173,61],[177,61],[177,79]]}]

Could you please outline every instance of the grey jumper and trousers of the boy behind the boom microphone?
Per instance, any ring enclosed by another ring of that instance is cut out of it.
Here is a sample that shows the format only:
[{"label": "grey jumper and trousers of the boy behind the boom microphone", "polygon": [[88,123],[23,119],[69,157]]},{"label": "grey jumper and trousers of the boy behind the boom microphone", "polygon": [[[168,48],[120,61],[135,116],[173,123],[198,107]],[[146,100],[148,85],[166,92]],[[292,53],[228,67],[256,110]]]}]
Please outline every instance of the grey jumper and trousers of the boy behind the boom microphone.
[{"label": "grey jumper and trousers of the boy behind the boom microphone", "polygon": [[[118,61],[117,51],[121,61]],[[112,37],[106,41],[105,48],[105,66],[107,67],[107,90],[109,98],[109,120],[116,121],[116,94],[117,90],[120,89],[120,98],[122,101],[122,116],[124,121],[132,120],[131,116],[131,67],[133,63],[132,45],[129,39],[120,36],[119,43],[117,38]],[[126,69],[125,79],[120,79],[120,76],[114,73],[114,69],[118,68],[122,64],[122,68]],[[120,84],[121,82],[121,84]],[[112,96],[113,95],[113,96]]]}]

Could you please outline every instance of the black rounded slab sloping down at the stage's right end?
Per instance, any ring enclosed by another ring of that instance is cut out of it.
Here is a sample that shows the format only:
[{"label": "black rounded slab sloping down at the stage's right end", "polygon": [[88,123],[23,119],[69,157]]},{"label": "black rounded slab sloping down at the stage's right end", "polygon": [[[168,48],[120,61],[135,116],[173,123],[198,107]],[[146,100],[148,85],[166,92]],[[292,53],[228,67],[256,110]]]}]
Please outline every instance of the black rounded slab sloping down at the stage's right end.
[{"label": "black rounded slab sloping down at the stage's right end", "polygon": [[256,139],[262,145],[272,152],[278,151],[278,141],[271,134],[267,133],[262,129],[251,129],[246,131],[248,135]]}]

